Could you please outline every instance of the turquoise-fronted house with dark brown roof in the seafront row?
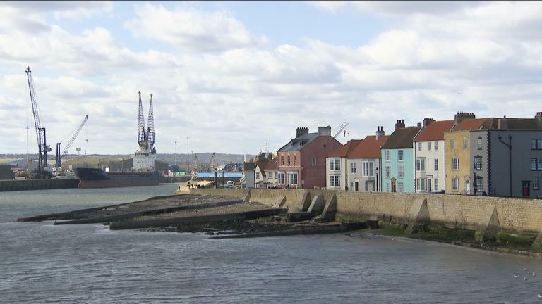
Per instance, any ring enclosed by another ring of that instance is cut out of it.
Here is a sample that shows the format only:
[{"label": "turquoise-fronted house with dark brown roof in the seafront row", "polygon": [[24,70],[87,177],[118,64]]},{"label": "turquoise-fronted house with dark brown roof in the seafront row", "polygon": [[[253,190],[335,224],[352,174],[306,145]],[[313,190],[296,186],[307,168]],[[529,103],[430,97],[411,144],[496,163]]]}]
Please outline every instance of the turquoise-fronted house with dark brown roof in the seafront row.
[{"label": "turquoise-fronted house with dark brown roof in the seafront row", "polygon": [[414,193],[414,151],[412,140],[421,127],[404,127],[404,120],[397,120],[395,132],[380,148],[380,186],[383,192]]}]

